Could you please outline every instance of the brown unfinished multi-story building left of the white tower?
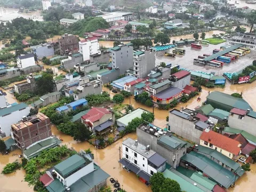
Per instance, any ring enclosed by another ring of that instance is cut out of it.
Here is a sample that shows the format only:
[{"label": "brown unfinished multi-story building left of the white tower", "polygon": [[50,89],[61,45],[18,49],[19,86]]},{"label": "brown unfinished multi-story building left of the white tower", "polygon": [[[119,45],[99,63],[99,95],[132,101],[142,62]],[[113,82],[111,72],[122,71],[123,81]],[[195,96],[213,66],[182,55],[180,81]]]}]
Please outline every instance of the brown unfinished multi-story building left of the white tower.
[{"label": "brown unfinished multi-story building left of the white tower", "polygon": [[[77,20],[76,20],[77,21]],[[60,54],[77,53],[79,50],[78,38],[75,35],[64,34],[59,39]]]}]

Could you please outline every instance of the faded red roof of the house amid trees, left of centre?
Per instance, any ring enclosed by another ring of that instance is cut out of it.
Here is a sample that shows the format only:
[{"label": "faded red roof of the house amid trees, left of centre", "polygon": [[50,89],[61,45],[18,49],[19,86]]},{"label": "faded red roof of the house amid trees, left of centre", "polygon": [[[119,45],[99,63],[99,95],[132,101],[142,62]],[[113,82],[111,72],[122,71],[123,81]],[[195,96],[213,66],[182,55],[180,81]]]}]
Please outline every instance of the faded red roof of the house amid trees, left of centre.
[{"label": "faded red roof of the house amid trees, left of centre", "polygon": [[103,115],[111,114],[111,112],[106,108],[92,108],[87,114],[82,116],[83,119],[88,119],[90,122],[98,121]]}]

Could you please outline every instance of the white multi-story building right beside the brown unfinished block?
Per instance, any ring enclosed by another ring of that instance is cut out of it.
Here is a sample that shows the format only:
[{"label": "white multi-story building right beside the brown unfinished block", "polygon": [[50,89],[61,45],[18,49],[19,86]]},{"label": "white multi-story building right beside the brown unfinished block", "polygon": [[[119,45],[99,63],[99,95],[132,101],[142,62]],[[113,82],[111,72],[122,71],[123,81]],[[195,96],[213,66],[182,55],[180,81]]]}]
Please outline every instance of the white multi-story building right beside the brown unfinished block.
[{"label": "white multi-story building right beside the brown unfinished block", "polygon": [[79,53],[83,55],[83,61],[90,60],[90,55],[98,53],[99,49],[96,37],[86,38],[79,42]]}]

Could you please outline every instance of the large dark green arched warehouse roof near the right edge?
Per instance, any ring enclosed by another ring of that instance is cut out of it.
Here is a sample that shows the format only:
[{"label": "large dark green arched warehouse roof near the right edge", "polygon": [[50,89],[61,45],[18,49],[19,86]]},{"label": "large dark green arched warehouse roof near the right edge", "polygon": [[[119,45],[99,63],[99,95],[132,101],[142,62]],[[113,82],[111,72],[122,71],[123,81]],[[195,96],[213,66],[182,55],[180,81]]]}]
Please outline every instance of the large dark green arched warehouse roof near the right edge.
[{"label": "large dark green arched warehouse roof near the right edge", "polygon": [[250,109],[251,106],[242,98],[236,98],[229,94],[219,91],[213,91],[206,97],[206,103],[211,104],[214,108],[230,111],[233,108]]}]

